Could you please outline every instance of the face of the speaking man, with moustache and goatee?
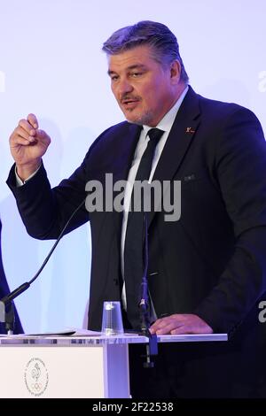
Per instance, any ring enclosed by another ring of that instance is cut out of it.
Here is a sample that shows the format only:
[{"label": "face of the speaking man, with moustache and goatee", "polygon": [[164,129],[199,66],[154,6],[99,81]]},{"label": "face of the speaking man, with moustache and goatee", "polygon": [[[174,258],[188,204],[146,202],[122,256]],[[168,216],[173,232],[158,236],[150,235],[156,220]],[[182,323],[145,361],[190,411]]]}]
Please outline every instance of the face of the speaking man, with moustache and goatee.
[{"label": "face of the speaking man, with moustache and goatee", "polygon": [[155,61],[147,45],[110,55],[108,64],[113,95],[126,119],[156,126],[176,102],[174,85],[179,76],[173,76],[171,65]]}]

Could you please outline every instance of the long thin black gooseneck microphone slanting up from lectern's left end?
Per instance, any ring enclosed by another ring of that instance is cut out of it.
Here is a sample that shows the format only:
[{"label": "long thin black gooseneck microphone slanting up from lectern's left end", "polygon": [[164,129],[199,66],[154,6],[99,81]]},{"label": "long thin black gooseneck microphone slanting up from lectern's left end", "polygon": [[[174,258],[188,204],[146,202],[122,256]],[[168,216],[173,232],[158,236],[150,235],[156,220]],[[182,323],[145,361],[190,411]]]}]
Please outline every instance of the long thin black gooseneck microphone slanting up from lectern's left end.
[{"label": "long thin black gooseneck microphone slanting up from lectern's left end", "polygon": [[21,293],[25,292],[25,290],[27,290],[30,287],[30,285],[37,279],[39,274],[43,272],[43,268],[48,263],[53,251],[56,249],[59,241],[64,235],[66,231],[66,227],[69,225],[70,221],[73,219],[76,212],[78,212],[82,208],[82,205],[85,203],[85,201],[86,201],[86,198],[83,199],[82,204],[79,204],[79,206],[71,214],[70,218],[66,221],[65,227],[60,232],[59,237],[57,238],[56,242],[51,247],[51,250],[49,251],[46,258],[44,258],[43,265],[39,268],[37,273],[35,273],[31,281],[25,281],[25,283],[21,284],[19,288],[12,290],[11,293],[6,295],[5,297],[2,297],[2,299],[0,300],[0,322],[5,323],[5,328],[7,330],[8,335],[13,334],[13,327],[14,327],[14,313],[13,313],[13,304],[12,304],[13,299],[15,299],[15,297],[19,297]]}]

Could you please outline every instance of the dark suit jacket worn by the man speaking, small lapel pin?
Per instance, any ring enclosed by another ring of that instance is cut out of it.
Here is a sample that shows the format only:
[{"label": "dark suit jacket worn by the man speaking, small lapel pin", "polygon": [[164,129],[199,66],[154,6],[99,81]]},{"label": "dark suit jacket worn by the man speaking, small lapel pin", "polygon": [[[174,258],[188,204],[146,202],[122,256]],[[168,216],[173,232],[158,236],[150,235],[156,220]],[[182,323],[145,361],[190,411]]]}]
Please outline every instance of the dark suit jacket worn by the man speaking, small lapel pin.
[{"label": "dark suit jacket worn by the man speaking, small lapel pin", "polygon": [[[140,127],[128,122],[108,128],[73,175],[52,190],[43,166],[22,188],[16,188],[12,168],[7,183],[27,232],[56,238],[85,198],[87,181],[104,184],[106,173],[113,173],[113,181],[127,179],[139,134]],[[158,316],[196,313],[215,332],[234,334],[239,350],[251,331],[254,343],[258,337],[265,346],[266,328],[258,322],[256,304],[266,291],[265,169],[266,144],[254,114],[190,88],[153,177],[182,182],[182,213],[176,222],[166,222],[165,212],[152,214],[150,290]],[[121,214],[89,215],[84,208],[67,232],[89,216],[89,327],[97,330],[103,301],[121,298]],[[130,318],[136,326],[137,315]]]}]

